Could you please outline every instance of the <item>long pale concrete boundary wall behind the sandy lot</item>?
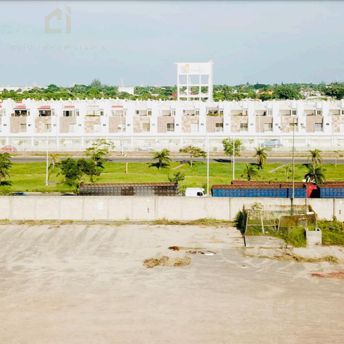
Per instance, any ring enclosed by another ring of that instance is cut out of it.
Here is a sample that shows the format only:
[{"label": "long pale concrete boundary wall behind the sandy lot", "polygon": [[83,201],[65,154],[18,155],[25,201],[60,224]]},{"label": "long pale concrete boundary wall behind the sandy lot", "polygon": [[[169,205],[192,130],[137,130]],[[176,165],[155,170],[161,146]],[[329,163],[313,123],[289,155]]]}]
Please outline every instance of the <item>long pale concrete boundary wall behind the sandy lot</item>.
[{"label": "long pale concrete boundary wall behind the sandy lot", "polygon": [[[191,221],[204,218],[235,219],[245,205],[261,203],[264,210],[288,209],[290,199],[167,197],[167,196],[0,196],[0,219]],[[310,205],[319,219],[336,216],[344,221],[344,199],[294,199],[295,205]]]}]

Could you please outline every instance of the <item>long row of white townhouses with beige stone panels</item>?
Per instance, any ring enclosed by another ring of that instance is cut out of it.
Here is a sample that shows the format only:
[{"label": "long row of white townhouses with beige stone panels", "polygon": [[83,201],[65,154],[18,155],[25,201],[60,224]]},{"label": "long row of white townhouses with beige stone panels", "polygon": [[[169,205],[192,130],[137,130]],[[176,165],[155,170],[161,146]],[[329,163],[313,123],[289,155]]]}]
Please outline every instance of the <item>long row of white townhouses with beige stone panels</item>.
[{"label": "long row of white townhouses with beige stone panels", "polygon": [[[98,138],[116,151],[178,151],[185,145],[222,152],[222,140],[242,149],[279,141],[273,150],[344,150],[344,101],[0,101],[0,147],[78,152]],[[268,145],[269,146],[269,145]]]}]

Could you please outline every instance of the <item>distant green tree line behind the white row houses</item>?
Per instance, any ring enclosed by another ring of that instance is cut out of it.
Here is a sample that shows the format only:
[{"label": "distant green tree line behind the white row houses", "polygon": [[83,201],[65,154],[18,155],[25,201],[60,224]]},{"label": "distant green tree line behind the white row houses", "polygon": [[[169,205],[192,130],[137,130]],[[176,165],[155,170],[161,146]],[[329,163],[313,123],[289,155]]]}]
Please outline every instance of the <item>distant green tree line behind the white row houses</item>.
[{"label": "distant green tree line behind the white row houses", "polygon": [[[193,94],[198,94],[197,87],[191,88]],[[202,88],[202,92],[205,89]],[[14,101],[22,101],[23,99],[34,99],[41,101],[68,100],[68,99],[129,99],[129,100],[171,100],[175,99],[177,92],[176,85],[167,86],[136,86],[134,94],[127,92],[118,92],[118,86],[105,85],[99,79],[94,79],[89,85],[73,85],[70,87],[62,87],[50,84],[47,88],[35,87],[31,90],[3,90],[0,92],[0,99],[13,99]],[[321,98],[326,99],[343,99],[344,83],[275,83],[272,85],[250,83],[239,85],[214,85],[213,99],[214,101],[241,101],[243,99],[260,99],[268,101],[270,99],[304,99],[307,92],[312,94],[320,94]]]}]

